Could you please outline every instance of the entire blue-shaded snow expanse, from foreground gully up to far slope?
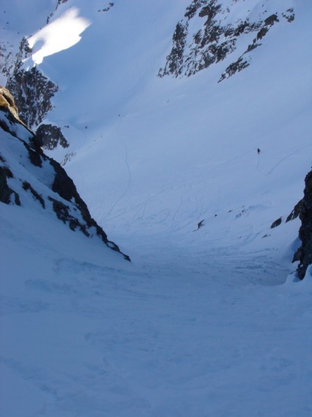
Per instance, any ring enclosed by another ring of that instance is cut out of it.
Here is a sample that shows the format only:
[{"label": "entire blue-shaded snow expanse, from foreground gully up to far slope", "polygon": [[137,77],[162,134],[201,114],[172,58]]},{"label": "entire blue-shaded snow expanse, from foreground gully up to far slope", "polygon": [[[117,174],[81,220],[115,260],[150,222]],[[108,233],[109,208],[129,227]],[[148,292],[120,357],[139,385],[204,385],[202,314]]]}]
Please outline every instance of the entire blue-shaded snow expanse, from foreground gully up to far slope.
[{"label": "entire blue-shaded snow expanse, from foreground gully up to far slope", "polygon": [[91,24],[40,65],[70,142],[49,155],[133,262],[1,204],[3,416],[312,414],[311,268],[295,280],[284,222],[311,170],[312,3],[222,83],[229,62],[158,79],[189,3],[69,0],[50,20]]}]

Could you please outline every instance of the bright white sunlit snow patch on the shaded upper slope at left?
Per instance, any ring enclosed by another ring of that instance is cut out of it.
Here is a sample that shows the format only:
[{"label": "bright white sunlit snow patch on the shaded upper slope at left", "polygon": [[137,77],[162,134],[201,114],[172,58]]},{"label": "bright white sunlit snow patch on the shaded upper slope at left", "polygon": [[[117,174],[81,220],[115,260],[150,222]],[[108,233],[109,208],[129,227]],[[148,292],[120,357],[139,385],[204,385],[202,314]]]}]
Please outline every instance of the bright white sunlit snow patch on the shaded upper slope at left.
[{"label": "bright white sunlit snow patch on the shaded upper slope at left", "polygon": [[28,38],[35,64],[42,63],[45,56],[56,54],[72,47],[81,40],[80,34],[85,31],[91,22],[83,17],[79,17],[79,9],[71,8],[61,15],[54,22],[44,26],[34,35]]}]

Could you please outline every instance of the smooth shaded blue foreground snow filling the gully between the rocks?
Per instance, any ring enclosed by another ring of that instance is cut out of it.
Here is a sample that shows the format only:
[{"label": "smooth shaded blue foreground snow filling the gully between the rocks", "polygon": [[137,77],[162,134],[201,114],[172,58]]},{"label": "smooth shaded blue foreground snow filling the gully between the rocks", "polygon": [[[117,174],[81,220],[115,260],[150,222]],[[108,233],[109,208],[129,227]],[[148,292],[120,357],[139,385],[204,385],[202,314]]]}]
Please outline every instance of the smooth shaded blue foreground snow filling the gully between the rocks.
[{"label": "smooth shaded blue foreground snow filling the gully between the rocks", "polygon": [[311,271],[261,286],[261,254],[165,243],[131,265],[25,210],[1,206],[3,416],[311,415]]}]

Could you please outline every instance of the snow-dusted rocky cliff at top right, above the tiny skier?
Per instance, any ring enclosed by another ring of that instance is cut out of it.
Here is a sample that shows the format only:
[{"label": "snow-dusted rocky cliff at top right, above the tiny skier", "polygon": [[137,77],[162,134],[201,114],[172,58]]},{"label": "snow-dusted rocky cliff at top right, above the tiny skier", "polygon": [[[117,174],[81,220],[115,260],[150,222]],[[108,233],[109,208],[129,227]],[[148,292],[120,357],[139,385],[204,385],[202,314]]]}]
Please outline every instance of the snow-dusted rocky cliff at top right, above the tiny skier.
[{"label": "snow-dusted rocky cliff at top right, above the tiny skier", "polygon": [[[172,50],[158,76],[191,76],[231,56],[233,60],[224,67],[219,81],[227,79],[250,64],[250,52],[261,46],[273,25],[295,19],[293,8],[270,14],[268,1],[261,1],[261,5],[248,10],[248,15],[241,15],[239,3],[193,0],[176,24]],[[238,17],[233,21],[235,15]]]}]

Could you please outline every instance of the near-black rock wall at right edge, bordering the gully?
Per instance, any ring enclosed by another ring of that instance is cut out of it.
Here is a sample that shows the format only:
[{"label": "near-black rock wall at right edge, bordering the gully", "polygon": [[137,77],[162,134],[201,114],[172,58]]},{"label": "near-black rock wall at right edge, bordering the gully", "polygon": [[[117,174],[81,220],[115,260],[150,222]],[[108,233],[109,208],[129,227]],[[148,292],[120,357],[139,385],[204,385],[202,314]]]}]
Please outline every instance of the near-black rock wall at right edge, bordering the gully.
[{"label": "near-black rock wall at right edge, bordering the gully", "polygon": [[301,246],[295,252],[293,262],[299,261],[297,275],[304,279],[306,269],[312,264],[312,170],[305,178],[304,197],[299,202],[299,219],[302,224],[299,229]]}]

